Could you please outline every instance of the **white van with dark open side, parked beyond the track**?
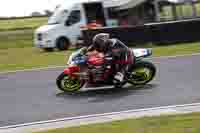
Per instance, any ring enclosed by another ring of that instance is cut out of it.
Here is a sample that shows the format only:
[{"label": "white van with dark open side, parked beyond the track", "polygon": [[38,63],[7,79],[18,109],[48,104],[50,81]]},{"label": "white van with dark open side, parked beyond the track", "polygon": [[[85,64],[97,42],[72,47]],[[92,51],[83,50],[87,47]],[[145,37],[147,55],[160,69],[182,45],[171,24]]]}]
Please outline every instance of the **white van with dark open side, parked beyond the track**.
[{"label": "white van with dark open side, parked beyond the track", "polygon": [[103,20],[103,26],[108,25],[105,9],[102,2],[78,3],[68,9],[60,6],[49,18],[48,24],[35,31],[35,46],[45,50],[65,50],[70,45],[76,45],[81,38],[80,27],[95,20],[96,17]]}]

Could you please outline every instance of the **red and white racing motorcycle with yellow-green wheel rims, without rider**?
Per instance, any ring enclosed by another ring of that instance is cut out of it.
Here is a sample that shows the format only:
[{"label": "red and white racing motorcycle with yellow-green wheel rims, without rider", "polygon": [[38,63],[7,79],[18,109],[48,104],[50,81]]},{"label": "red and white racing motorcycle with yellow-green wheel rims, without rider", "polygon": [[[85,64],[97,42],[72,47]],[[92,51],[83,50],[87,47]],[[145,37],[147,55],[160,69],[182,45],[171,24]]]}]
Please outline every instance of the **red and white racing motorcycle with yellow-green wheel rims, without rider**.
[{"label": "red and white racing motorcycle with yellow-green wheel rims, without rider", "polygon": [[[85,48],[72,53],[68,59],[68,66],[57,77],[57,87],[64,92],[77,92],[81,88],[110,88],[118,87],[114,83],[116,74],[114,61],[111,57],[86,55]],[[126,63],[126,74],[120,87],[126,83],[145,85],[149,83],[156,74],[156,67],[153,63],[143,60],[151,56],[151,49],[130,49]],[[134,64],[132,60],[134,59]],[[119,63],[119,62],[118,62]]]}]

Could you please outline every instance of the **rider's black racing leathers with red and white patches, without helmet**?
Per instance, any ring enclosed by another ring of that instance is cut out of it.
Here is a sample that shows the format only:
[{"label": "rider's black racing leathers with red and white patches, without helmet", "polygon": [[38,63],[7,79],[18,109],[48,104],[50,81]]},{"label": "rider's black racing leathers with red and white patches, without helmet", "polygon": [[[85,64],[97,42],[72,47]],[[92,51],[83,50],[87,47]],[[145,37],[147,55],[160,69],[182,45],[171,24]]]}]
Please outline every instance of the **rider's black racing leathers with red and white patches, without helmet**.
[{"label": "rider's black racing leathers with red and white patches, without helmet", "polygon": [[109,39],[106,42],[105,47],[99,47],[99,45],[91,45],[88,49],[104,52],[105,56],[112,57],[112,67],[115,69],[114,82],[121,83],[124,80],[125,68],[127,63],[133,63],[131,57],[132,52],[129,48],[118,39]]}]

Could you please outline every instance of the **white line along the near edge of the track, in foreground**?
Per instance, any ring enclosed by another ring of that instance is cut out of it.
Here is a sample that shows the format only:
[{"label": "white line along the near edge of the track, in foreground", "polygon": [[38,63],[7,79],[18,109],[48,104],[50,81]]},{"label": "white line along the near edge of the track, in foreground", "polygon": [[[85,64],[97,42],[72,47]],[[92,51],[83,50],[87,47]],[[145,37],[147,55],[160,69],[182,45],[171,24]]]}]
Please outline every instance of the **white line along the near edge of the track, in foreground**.
[{"label": "white line along the near edge of the track, in foreground", "polygon": [[[59,123],[59,122],[67,122],[67,121],[73,121],[73,120],[84,120],[88,118],[100,118],[100,117],[117,117],[119,115],[125,115],[125,114],[134,114],[134,113],[140,113],[140,112],[152,112],[152,114],[160,115],[163,113],[190,113],[195,112],[192,111],[192,107],[198,107],[200,111],[200,103],[193,103],[193,104],[183,104],[183,105],[172,105],[172,106],[163,106],[163,107],[154,107],[154,108],[146,108],[146,109],[136,109],[136,110],[127,110],[127,111],[120,111],[120,112],[111,112],[111,113],[103,113],[103,114],[94,114],[94,115],[86,115],[86,116],[78,116],[78,117],[67,117],[62,119],[55,119],[55,120],[49,120],[49,121],[39,121],[39,122],[32,122],[32,123],[25,123],[25,124],[19,124],[19,125],[11,125],[11,126],[5,126],[0,127],[1,130],[6,129],[15,129],[20,127],[30,127],[30,126],[37,126],[37,125],[45,125],[45,124],[52,124],[52,123]],[[182,110],[181,110],[182,109]],[[122,118],[123,119],[123,118]],[[77,123],[79,125],[79,123]]]}]

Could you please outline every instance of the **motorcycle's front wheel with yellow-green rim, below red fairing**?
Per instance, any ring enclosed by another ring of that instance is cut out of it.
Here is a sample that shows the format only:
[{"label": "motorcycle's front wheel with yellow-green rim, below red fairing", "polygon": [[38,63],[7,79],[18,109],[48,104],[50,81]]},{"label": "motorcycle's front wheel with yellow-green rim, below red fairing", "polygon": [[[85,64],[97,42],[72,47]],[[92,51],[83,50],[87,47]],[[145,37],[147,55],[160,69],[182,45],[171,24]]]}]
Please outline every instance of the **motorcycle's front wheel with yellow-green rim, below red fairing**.
[{"label": "motorcycle's front wheel with yellow-green rim, below red fairing", "polygon": [[59,90],[72,93],[79,91],[84,83],[80,79],[72,79],[69,75],[61,73],[56,80],[56,84]]}]

